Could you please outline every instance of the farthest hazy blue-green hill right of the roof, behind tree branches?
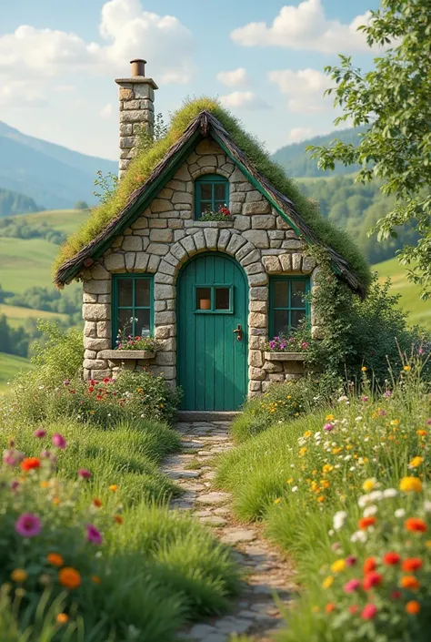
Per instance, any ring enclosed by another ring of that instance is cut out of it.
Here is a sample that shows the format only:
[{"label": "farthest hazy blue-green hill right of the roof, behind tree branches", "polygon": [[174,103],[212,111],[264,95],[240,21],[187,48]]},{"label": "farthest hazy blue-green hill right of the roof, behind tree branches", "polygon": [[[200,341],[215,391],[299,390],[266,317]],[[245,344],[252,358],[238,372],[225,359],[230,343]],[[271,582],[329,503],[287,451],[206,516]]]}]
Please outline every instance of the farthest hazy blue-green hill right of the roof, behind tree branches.
[{"label": "farthest hazy blue-green hill right of the roof, behind tree branches", "polygon": [[359,170],[358,165],[350,165],[346,168],[341,163],[336,163],[335,171],[322,171],[322,169],[317,168],[317,161],[311,158],[309,152],[306,152],[306,147],[308,145],[328,146],[335,138],[342,140],[344,143],[357,145],[359,142],[359,134],[363,131],[363,127],[340,129],[339,131],[326,134],[326,136],[316,136],[315,138],[304,140],[301,143],[286,145],[284,148],[277,149],[272,159],[276,160],[276,162],[285,169],[287,176],[291,178],[352,174]]}]

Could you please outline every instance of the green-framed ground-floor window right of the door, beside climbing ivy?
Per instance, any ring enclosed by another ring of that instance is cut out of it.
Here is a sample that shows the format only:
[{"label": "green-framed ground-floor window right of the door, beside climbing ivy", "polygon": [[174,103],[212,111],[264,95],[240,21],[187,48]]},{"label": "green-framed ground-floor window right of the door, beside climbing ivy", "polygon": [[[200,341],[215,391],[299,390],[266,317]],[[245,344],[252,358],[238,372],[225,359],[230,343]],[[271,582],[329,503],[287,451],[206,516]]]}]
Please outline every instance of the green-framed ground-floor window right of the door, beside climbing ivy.
[{"label": "green-framed ground-floor window right of the door, beside climbing ivy", "polygon": [[306,294],[310,291],[307,277],[272,277],[269,281],[270,339],[297,328],[299,321],[310,315]]}]

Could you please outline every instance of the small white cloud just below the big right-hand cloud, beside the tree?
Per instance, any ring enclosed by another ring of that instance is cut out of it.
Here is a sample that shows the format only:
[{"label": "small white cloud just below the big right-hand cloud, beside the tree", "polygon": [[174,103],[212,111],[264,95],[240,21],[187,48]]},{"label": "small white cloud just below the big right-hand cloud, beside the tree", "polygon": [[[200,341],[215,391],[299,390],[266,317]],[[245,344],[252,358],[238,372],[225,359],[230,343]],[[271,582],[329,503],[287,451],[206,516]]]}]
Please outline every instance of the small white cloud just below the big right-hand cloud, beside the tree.
[{"label": "small white cloud just below the big right-hand cloud, beside the tree", "polygon": [[333,81],[316,69],[269,71],[268,80],[289,97],[287,108],[293,113],[314,113],[333,105],[333,97],[324,97],[325,90],[333,87]]}]

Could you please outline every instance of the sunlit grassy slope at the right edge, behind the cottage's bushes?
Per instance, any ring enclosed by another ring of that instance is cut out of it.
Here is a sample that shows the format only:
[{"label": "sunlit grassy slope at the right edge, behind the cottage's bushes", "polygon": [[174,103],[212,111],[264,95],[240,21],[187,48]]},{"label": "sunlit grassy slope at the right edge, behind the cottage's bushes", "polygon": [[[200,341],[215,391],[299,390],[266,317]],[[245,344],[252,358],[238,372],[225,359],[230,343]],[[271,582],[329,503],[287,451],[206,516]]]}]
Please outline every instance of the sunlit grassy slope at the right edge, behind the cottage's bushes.
[{"label": "sunlit grassy slope at the right edge, behind the cottage's bushes", "polygon": [[391,278],[391,292],[401,294],[400,306],[408,312],[409,323],[431,330],[431,301],[421,300],[420,288],[407,279],[406,268],[397,259],[385,260],[373,268],[378,271],[380,281]]}]

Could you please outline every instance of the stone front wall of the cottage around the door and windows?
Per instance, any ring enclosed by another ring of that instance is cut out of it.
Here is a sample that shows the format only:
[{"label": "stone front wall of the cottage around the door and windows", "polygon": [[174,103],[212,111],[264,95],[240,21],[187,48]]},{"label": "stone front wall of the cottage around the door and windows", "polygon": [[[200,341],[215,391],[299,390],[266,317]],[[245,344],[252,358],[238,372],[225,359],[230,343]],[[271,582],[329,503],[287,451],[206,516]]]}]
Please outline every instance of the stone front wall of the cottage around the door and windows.
[{"label": "stone front wall of the cottage around the door and windows", "polygon": [[[194,219],[194,180],[202,174],[229,180],[233,221]],[[243,266],[249,285],[249,395],[272,381],[301,376],[300,364],[264,359],[268,338],[268,275],[316,273],[314,260],[302,254],[303,243],[270,203],[246,180],[209,138],[203,140],[139,219],[115,239],[110,250],[84,273],[85,377],[101,379],[117,363],[101,358],[111,348],[111,274],[149,272],[155,275],[155,337],[162,349],[149,362],[156,374],[175,385],[176,277],[185,261],[198,252],[226,252]],[[318,333],[316,320],[313,332]],[[103,356],[103,355],[102,355]]]}]

